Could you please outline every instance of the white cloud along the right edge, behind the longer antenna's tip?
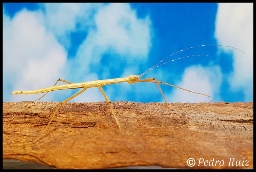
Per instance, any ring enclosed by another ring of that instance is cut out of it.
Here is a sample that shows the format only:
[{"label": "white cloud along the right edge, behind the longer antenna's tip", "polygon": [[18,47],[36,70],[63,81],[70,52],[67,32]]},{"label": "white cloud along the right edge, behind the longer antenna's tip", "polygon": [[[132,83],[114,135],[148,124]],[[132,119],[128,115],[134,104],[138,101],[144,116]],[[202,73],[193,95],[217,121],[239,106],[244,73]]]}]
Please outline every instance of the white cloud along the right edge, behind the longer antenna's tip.
[{"label": "white cloud along the right edge, behind the longer antenna's tip", "polygon": [[245,101],[253,101],[253,3],[219,3],[215,37],[218,44],[246,52],[232,50],[234,72],[229,83],[234,91],[244,92]]}]

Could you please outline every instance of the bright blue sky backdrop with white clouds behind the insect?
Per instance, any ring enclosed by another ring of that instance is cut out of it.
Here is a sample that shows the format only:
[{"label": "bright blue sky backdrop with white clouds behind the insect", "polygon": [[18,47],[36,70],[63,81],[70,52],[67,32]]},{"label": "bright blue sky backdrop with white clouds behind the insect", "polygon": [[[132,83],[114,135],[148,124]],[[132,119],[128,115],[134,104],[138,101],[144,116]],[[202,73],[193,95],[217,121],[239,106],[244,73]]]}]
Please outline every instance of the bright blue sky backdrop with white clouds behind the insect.
[{"label": "bright blue sky backdrop with white clouds behind the insect", "polygon": [[[3,3],[3,101],[35,100],[15,90],[140,75],[161,85],[168,102],[253,101],[253,3]],[[60,82],[60,84],[65,84]],[[110,101],[164,102],[154,83],[103,87]],[[79,89],[50,92],[63,101]],[[105,101],[89,88],[73,102]]]}]

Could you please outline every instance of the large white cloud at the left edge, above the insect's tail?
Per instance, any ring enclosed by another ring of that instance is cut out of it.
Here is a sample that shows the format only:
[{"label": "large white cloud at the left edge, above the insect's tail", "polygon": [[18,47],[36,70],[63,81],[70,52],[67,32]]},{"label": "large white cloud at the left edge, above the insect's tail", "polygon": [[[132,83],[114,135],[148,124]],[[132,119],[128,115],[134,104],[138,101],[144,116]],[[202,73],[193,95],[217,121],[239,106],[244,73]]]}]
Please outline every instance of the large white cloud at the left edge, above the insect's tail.
[{"label": "large white cloud at the left edge, above the insect's tail", "polygon": [[[24,100],[10,93],[49,87],[62,76],[66,52],[45,29],[42,18],[42,13],[26,10],[17,13],[12,20],[3,14],[3,94],[6,100]],[[39,98],[38,95],[27,97]]]}]

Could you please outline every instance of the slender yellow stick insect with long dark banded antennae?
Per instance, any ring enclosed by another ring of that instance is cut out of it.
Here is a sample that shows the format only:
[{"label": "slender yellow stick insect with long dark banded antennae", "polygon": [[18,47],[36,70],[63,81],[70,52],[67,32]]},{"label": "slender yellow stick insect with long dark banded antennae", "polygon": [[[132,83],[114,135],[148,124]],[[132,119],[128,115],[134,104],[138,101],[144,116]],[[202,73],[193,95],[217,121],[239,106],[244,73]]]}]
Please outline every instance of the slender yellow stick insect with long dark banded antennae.
[{"label": "slender yellow stick insect with long dark banded antennae", "polygon": [[[167,58],[173,56],[174,54],[177,54],[177,53],[179,53],[179,52],[182,52],[182,51],[185,51],[185,50],[188,50],[188,49],[192,49],[192,48],[195,48],[195,47],[202,47],[202,46],[225,46],[225,47],[230,47],[230,46],[226,46],[226,45],[198,45],[198,46],[186,48],[186,49],[180,50],[180,51],[178,51],[178,52],[175,52],[175,53],[173,53],[173,54],[167,56],[166,58],[164,58],[163,60],[161,60],[160,62],[158,62],[157,64],[155,64],[153,67],[151,67],[149,70],[147,70],[146,72],[144,72],[144,73],[141,74],[141,75],[130,75],[130,76],[123,77],[123,78],[105,79],[105,80],[97,80],[97,81],[89,81],[89,82],[81,82],[81,83],[72,83],[72,82],[69,82],[69,81],[65,81],[65,80],[63,80],[63,79],[58,79],[58,80],[56,81],[56,83],[55,83],[53,86],[48,87],[48,88],[43,88],[43,89],[38,89],[38,90],[33,90],[33,91],[14,91],[14,92],[12,92],[11,94],[39,94],[39,93],[45,93],[45,92],[46,92],[42,97],[40,97],[40,98],[38,98],[38,99],[32,101],[32,102],[35,102],[35,101],[40,100],[41,98],[43,98],[43,97],[44,97],[47,93],[49,93],[50,91],[62,90],[62,89],[76,89],[76,88],[82,88],[82,90],[79,91],[77,94],[75,94],[75,95],[73,95],[73,96],[71,96],[71,97],[69,97],[69,98],[67,98],[67,99],[65,99],[64,101],[62,101],[62,102],[59,103],[57,109],[55,110],[54,114],[52,115],[52,117],[51,117],[51,119],[50,119],[48,125],[46,126],[46,128],[42,131],[42,133],[40,134],[40,136],[37,137],[36,140],[35,140],[34,142],[32,142],[31,144],[36,143],[39,139],[41,139],[41,138],[43,137],[44,133],[47,131],[47,129],[48,129],[50,123],[52,122],[53,118],[54,118],[55,115],[57,114],[57,112],[58,112],[60,106],[63,105],[64,103],[66,103],[67,101],[71,100],[72,98],[78,96],[79,94],[81,94],[82,92],[84,92],[87,88],[98,87],[98,88],[100,89],[101,93],[103,94],[103,96],[104,96],[105,99],[106,99],[107,104],[108,104],[109,107],[110,107],[110,110],[111,110],[111,112],[112,112],[112,114],[113,114],[113,116],[114,116],[114,118],[115,118],[116,124],[117,124],[117,126],[118,126],[118,128],[119,128],[119,131],[120,131],[120,133],[121,133],[122,135],[124,135],[124,134],[123,134],[123,132],[122,132],[122,130],[121,130],[121,126],[120,126],[120,124],[119,124],[119,122],[118,122],[118,120],[117,120],[116,114],[115,114],[115,112],[114,112],[114,110],[113,110],[113,108],[112,108],[112,106],[111,106],[110,101],[108,100],[106,94],[104,93],[104,91],[103,91],[103,89],[102,89],[103,86],[107,86],[107,85],[110,85],[110,84],[123,83],[123,82],[127,82],[127,83],[129,83],[129,84],[135,84],[135,83],[138,83],[138,82],[151,82],[151,83],[156,83],[157,86],[158,86],[158,88],[159,88],[159,90],[160,90],[160,92],[161,92],[161,94],[162,94],[162,96],[163,96],[163,98],[164,98],[166,107],[167,107],[170,111],[171,111],[171,109],[170,109],[170,107],[169,107],[169,105],[168,105],[168,103],[167,103],[167,101],[166,101],[166,99],[165,99],[165,97],[164,97],[164,94],[163,94],[163,92],[162,92],[162,90],[161,90],[159,84],[165,84],[165,85],[168,85],[168,86],[173,86],[173,87],[176,87],[176,88],[179,88],[179,89],[182,89],[182,90],[191,92],[191,93],[200,94],[200,95],[203,95],[203,96],[210,97],[210,96],[208,96],[208,95],[205,95],[205,94],[202,94],[202,93],[193,92],[193,91],[190,91],[190,90],[187,90],[187,89],[178,87],[178,86],[174,86],[174,85],[165,83],[165,82],[163,82],[163,81],[158,81],[156,78],[140,79],[141,76],[145,75],[145,74],[148,73],[149,71],[151,71],[151,70],[153,70],[153,69],[155,69],[155,68],[157,68],[157,67],[159,67],[159,66],[161,66],[161,65],[164,65],[164,64],[166,64],[166,63],[170,63],[170,62],[173,62],[173,61],[176,61],[176,60],[179,60],[179,59],[188,58],[188,57],[193,57],[193,56],[210,56],[210,55],[191,55],[191,56],[185,56],[185,57],[181,57],[181,58],[178,58],[178,59],[174,59],[174,60],[171,60],[171,61],[162,63],[165,59],[167,59]],[[230,48],[237,49],[237,48],[235,48],[235,47],[230,47]],[[237,50],[239,50],[239,49],[237,49]],[[239,50],[239,51],[243,52],[242,50]],[[245,52],[243,52],[243,53],[245,53]],[[210,56],[210,57],[212,57],[212,56]],[[162,63],[162,64],[160,64],[160,63]],[[59,81],[65,82],[65,83],[67,83],[67,84],[56,86],[56,84],[57,84]],[[173,118],[176,119],[175,116],[173,115],[172,111],[171,111],[171,114],[172,114]],[[177,119],[176,119],[176,120],[177,120]]]}]

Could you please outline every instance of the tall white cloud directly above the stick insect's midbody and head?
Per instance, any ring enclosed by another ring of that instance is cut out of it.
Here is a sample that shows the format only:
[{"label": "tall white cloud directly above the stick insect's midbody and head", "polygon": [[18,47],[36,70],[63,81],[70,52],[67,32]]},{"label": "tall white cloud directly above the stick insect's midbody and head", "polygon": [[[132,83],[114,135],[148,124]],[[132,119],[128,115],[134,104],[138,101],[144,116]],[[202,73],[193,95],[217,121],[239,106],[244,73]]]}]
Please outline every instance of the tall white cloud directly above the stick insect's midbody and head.
[{"label": "tall white cloud directly above the stick insect's midbody and head", "polygon": [[[145,63],[151,47],[150,20],[136,18],[136,11],[125,3],[111,3],[100,10],[94,16],[95,26],[88,31],[86,40],[80,45],[76,58],[70,62],[77,68],[72,71],[77,80],[87,75],[90,65],[102,66],[101,60],[104,53],[119,54],[121,59],[112,59],[114,67],[123,70],[119,66],[119,60],[127,62],[126,67]],[[129,59],[129,60],[127,60]],[[109,79],[109,70],[112,66],[104,68],[104,74]],[[120,72],[122,74],[122,72]],[[100,78],[103,79],[103,78]]]}]

